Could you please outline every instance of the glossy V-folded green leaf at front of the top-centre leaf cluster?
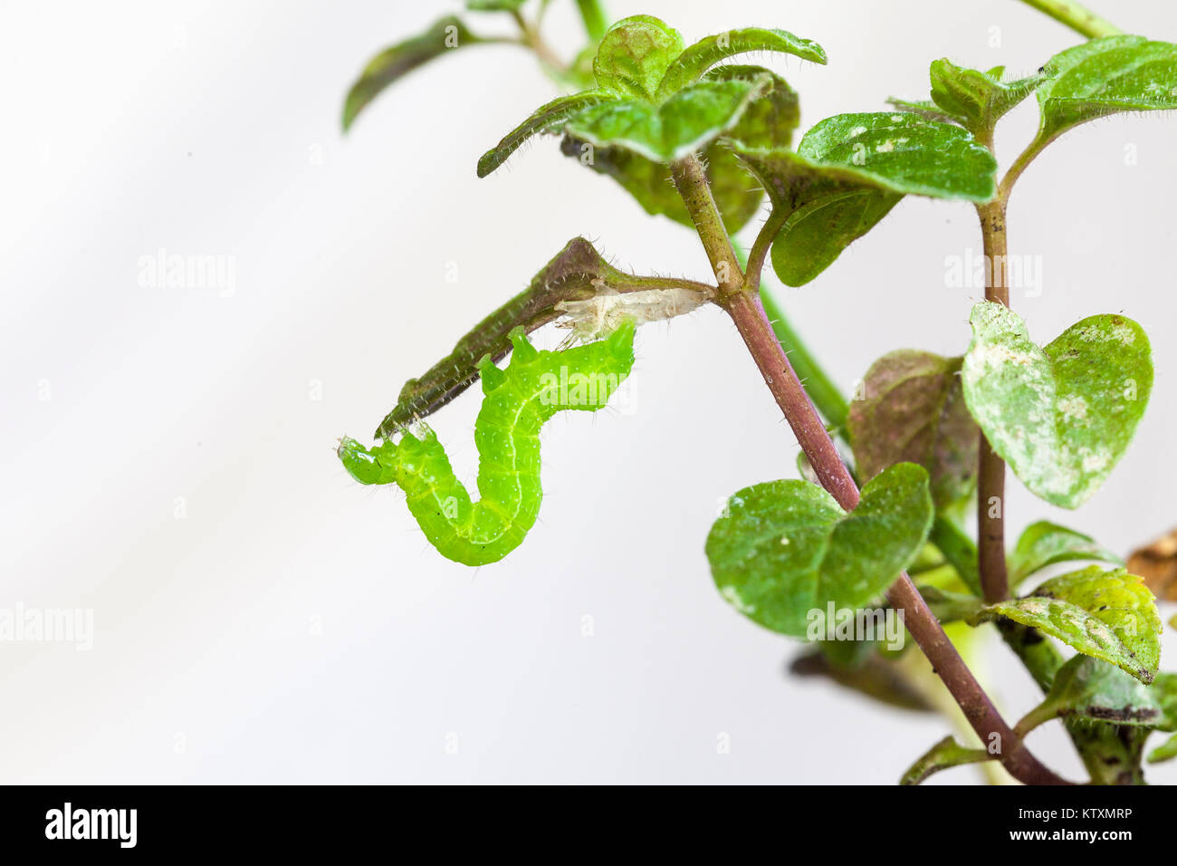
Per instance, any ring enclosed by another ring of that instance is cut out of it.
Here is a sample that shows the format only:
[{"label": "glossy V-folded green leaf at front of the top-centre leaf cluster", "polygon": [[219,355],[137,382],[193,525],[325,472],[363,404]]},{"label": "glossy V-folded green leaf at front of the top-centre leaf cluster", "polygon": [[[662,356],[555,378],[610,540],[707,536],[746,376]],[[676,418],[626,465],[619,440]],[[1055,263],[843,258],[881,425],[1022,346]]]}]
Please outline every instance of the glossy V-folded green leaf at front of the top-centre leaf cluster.
[{"label": "glossy V-folded green leaf at front of the top-centre leaf cluster", "polygon": [[637,99],[594,105],[570,118],[567,131],[594,147],[625,147],[672,163],[732,127],[756,95],[757,85],[750,81],[699,81],[661,105]]}]

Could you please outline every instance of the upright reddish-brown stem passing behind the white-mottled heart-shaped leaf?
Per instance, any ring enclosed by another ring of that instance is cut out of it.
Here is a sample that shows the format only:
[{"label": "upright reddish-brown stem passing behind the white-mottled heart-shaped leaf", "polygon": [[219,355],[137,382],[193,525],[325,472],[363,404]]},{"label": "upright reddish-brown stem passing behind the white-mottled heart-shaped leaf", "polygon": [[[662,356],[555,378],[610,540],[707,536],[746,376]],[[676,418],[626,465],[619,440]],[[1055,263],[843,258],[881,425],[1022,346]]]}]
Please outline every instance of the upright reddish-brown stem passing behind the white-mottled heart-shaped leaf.
[{"label": "upright reddish-brown stem passing behind the white-mottled heart-shaped leaf", "polygon": [[[1010,305],[1005,275],[1005,199],[977,206],[989,276],[985,300]],[[1010,582],[1005,569],[1005,461],[980,436],[977,471],[977,547],[980,556],[980,588],[990,604],[1006,599]]]}]

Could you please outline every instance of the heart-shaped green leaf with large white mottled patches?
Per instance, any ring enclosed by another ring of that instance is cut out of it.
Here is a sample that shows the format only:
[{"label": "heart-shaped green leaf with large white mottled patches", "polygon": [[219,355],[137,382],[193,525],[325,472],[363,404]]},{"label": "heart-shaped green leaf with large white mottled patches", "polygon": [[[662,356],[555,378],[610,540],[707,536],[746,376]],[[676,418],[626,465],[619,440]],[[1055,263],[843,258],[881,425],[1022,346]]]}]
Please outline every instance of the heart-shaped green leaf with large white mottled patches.
[{"label": "heart-shaped green leaf with large white mottled patches", "polygon": [[962,376],[969,411],[1022,482],[1078,508],[1123,456],[1152,389],[1149,338],[1123,316],[1092,316],[1045,349],[992,302],[972,309]]}]

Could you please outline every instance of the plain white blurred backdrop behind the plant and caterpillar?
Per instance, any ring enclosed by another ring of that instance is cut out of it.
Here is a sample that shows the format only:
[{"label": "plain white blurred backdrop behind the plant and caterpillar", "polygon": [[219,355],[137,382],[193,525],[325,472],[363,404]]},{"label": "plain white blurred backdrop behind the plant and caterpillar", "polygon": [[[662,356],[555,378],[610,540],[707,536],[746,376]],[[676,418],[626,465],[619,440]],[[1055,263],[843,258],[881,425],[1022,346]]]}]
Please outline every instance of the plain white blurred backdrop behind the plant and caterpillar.
[{"label": "plain white blurred backdrop behind the plant and caterpillar", "polygon": [[[633,414],[550,424],[541,522],[503,563],[443,560],[398,491],[341,470],[337,438],[366,438],[406,378],[570,238],[707,278],[690,232],[552,139],[476,179],[479,154],[553,95],[519,49],[444,58],[341,134],[364,62],[457,6],[5,4],[0,607],[92,608],[95,636],[88,653],[0,643],[0,781],[890,784],[947,733],[790,681],[797,644],[716,593],[717,501],[796,477],[797,450],[718,311],[641,331]],[[818,40],[826,67],[762,59],[800,91],[805,127],[926,95],[937,57],[1031,72],[1079,41],[1012,0],[610,6],[689,41],[752,24]],[[565,53],[571,8],[550,14]],[[1177,38],[1169,4],[1100,8]],[[1030,100],[1003,163],[1033,125]],[[1126,553],[1177,523],[1175,150],[1171,118],[1092,124],[1015,194],[1011,252],[1040,256],[1045,277],[1040,297],[1015,293],[1031,332],[1123,311],[1150,330],[1157,375],[1091,503],[1063,513],[1011,481],[1013,531],[1049,517]],[[967,205],[906,199],[783,300],[849,388],[895,348],[963,351],[978,292],[945,286],[945,257],[978,244]],[[234,257],[235,291],[140,285],[139,258],[161,247]],[[471,481],[477,402],[434,424]],[[1012,721],[1033,687],[1000,646],[989,657]],[[1078,778],[1057,727],[1031,743]]]}]

